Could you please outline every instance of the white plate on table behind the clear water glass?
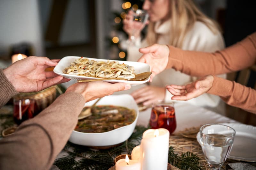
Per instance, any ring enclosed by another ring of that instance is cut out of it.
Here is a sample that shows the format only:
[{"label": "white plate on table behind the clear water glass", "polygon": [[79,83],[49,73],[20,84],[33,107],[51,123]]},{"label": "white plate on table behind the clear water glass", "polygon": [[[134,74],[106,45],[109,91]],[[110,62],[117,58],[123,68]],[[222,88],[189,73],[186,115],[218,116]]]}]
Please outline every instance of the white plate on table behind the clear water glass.
[{"label": "white plate on table behind the clear water glass", "polygon": [[[239,161],[256,161],[256,127],[241,123],[221,123],[236,130],[233,147],[228,155],[229,159]],[[199,132],[196,135],[197,142],[200,144]]]}]

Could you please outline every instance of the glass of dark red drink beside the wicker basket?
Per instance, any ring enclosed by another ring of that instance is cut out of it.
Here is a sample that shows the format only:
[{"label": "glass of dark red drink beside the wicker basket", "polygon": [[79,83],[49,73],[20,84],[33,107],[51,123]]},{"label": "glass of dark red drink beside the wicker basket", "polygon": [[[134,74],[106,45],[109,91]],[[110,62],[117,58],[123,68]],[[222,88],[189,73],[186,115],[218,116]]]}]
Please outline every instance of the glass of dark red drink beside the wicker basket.
[{"label": "glass of dark red drink beside the wicker basket", "polygon": [[13,99],[13,118],[18,125],[37,115],[36,102],[33,99]]}]

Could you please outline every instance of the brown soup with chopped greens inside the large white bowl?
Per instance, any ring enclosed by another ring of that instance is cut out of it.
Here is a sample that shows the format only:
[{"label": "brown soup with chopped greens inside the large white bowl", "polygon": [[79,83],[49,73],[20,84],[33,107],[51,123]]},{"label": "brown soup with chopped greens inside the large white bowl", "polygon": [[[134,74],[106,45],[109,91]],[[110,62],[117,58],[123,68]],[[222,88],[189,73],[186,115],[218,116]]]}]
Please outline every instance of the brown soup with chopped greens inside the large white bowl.
[{"label": "brown soup with chopped greens inside the large white bowl", "polygon": [[133,109],[99,105],[92,108],[91,116],[78,121],[75,130],[85,133],[102,133],[132,124],[135,118],[136,112]]}]

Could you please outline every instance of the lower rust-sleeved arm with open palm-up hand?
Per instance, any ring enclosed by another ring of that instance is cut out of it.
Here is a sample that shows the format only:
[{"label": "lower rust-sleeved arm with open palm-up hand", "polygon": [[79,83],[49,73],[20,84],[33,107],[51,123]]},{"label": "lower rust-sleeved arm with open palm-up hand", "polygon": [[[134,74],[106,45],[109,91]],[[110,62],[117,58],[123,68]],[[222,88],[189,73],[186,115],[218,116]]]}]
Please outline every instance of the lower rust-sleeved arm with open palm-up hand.
[{"label": "lower rust-sleeved arm with open palm-up hand", "polygon": [[188,85],[166,86],[173,100],[189,100],[204,93],[220,96],[227,104],[256,113],[256,90],[217,76],[206,76]]}]

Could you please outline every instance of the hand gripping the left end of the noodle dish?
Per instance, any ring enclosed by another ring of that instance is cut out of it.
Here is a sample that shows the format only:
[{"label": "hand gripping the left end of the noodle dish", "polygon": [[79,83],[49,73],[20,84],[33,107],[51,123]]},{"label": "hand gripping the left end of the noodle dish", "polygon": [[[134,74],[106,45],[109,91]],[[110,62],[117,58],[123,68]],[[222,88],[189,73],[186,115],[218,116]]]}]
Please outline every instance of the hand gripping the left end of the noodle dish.
[{"label": "hand gripping the left end of the noodle dish", "polygon": [[29,56],[13,63],[3,72],[18,92],[38,92],[70,80],[52,71],[44,71],[47,67],[56,66],[58,61]]}]

